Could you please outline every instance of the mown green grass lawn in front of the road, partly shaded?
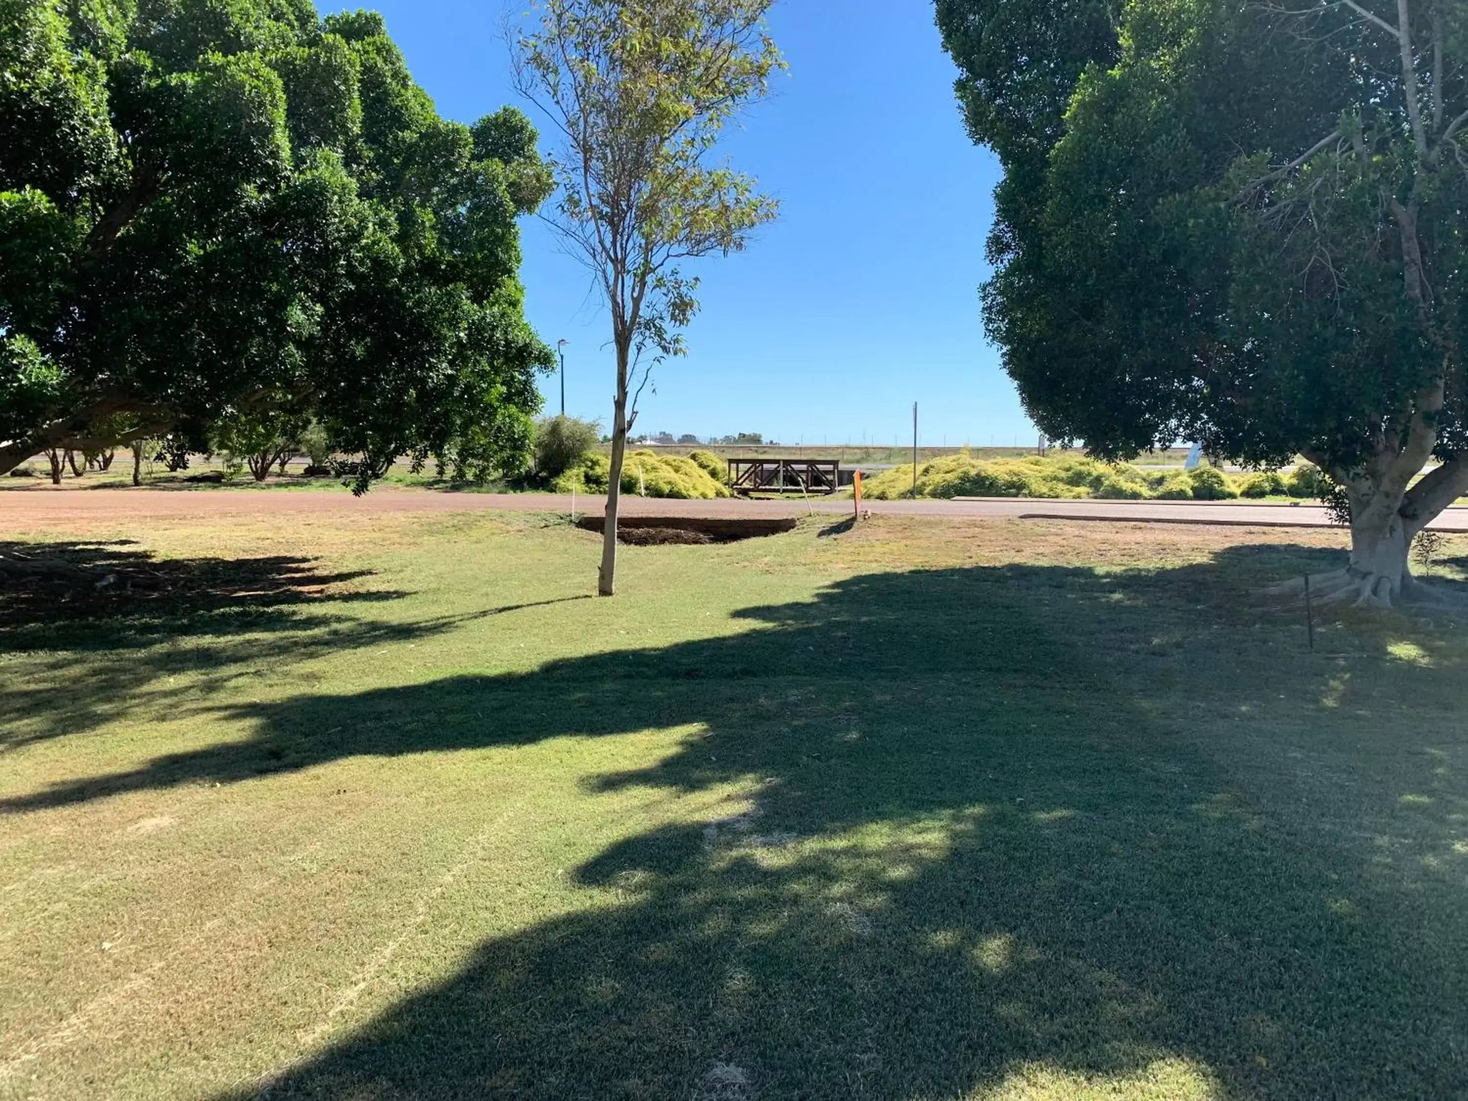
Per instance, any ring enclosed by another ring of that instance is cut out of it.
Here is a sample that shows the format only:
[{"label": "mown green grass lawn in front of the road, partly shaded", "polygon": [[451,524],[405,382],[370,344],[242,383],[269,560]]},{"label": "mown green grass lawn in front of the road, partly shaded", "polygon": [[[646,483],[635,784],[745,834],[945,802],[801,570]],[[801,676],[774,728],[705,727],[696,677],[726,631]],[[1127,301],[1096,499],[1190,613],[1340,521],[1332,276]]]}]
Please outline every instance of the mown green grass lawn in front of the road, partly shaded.
[{"label": "mown green grass lawn in front of the road, partly shaded", "polygon": [[0,1098],[1468,1095],[1468,627],[1309,653],[1337,533],[10,540],[119,580],[0,589]]}]

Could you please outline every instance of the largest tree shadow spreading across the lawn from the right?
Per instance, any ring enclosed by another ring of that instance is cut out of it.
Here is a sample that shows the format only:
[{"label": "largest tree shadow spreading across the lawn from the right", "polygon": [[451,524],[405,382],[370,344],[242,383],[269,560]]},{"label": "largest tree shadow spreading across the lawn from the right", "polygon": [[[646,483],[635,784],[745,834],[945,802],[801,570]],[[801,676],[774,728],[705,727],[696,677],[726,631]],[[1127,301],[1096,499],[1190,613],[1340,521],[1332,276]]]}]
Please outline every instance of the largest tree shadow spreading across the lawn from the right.
[{"label": "largest tree shadow spreading across the lawn from the right", "polygon": [[590,796],[749,791],[270,1097],[1461,1097],[1459,652],[1305,655],[1238,609],[1270,553],[1317,562],[856,577],[734,637],[247,705],[250,743],[6,809],[646,728],[683,733]]}]

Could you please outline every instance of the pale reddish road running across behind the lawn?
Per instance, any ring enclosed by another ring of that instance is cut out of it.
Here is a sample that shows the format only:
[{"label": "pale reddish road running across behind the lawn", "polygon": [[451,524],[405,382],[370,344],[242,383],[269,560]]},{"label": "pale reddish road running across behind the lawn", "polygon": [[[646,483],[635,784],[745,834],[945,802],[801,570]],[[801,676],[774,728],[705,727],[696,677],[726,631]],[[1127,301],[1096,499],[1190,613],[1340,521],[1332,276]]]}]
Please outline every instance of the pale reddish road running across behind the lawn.
[{"label": "pale reddish road running across behind the lawn", "polygon": [[[599,515],[600,498],[577,498],[577,511]],[[1110,523],[1230,524],[1240,527],[1329,527],[1318,505],[1204,504],[1163,501],[1033,501],[989,498],[970,501],[873,501],[878,515],[957,518],[1032,517]],[[0,490],[0,531],[18,526],[75,524],[128,518],[188,518],[222,515],[371,515],[402,512],[568,512],[571,498],[549,493],[442,493],[379,487],[363,498],[316,489],[50,489]],[[624,515],[666,517],[788,517],[844,515],[850,501],[656,501],[624,498]],[[1468,531],[1468,508],[1445,512],[1434,524],[1443,531]]]}]

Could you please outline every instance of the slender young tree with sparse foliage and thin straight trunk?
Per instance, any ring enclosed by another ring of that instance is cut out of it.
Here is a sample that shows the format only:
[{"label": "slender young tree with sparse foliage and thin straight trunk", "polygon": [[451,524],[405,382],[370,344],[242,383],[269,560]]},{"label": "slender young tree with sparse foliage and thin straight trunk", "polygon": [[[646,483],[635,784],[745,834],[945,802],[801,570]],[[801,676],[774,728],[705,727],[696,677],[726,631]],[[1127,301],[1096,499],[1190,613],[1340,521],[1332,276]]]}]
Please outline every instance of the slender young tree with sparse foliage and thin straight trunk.
[{"label": "slender young tree with sparse foliage and thin straight trunk", "polygon": [[680,264],[743,250],[778,210],[753,179],[709,163],[724,126],[781,65],[765,31],[771,3],[542,0],[517,43],[520,88],[559,131],[555,225],[612,320],[602,596],[617,592],[617,509],[637,395],[653,363],[683,354],[681,329],[699,305],[697,280]]}]

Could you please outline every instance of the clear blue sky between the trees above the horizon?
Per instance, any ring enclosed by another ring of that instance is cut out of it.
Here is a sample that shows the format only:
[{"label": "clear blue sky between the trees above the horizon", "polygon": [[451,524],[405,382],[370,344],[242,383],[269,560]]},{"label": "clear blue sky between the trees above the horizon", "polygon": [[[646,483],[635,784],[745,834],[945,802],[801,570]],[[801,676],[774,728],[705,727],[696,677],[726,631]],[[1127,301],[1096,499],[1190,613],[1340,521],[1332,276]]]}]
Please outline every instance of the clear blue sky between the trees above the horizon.
[{"label": "clear blue sky between the trees above the horizon", "polygon": [[[448,117],[517,101],[499,0],[323,7],[380,10]],[[925,445],[1032,440],[979,317],[1000,170],[963,131],[932,6],[782,0],[771,29],[790,72],[727,148],[780,197],[781,220],[747,252],[700,266],[690,354],[656,370],[637,430],[891,443],[912,439],[916,401]],[[552,345],[571,342],[567,413],[606,423],[606,313],[533,219],[524,251],[530,321]],[[553,413],[556,379],[542,389]]]}]

